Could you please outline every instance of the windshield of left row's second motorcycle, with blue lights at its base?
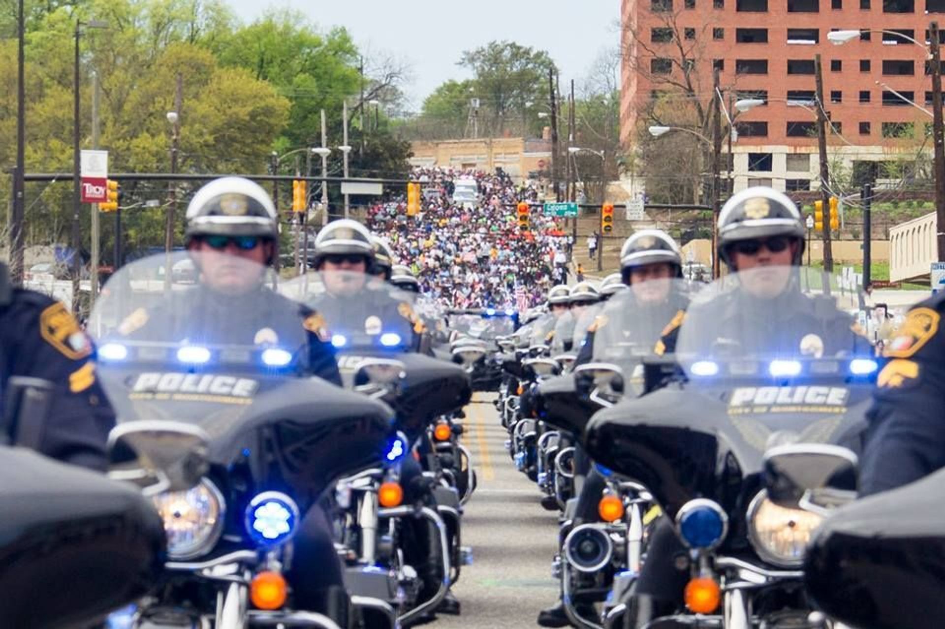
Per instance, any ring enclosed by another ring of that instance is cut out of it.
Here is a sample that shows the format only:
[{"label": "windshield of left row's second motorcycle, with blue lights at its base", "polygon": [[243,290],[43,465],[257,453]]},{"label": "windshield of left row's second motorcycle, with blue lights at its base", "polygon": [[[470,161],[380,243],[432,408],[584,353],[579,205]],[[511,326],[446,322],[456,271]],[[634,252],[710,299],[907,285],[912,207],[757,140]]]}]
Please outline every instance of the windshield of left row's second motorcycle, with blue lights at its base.
[{"label": "windshield of left row's second motorcycle, with blue lights at its base", "polygon": [[338,351],[413,351],[425,331],[415,293],[364,273],[308,273],[284,282],[280,293],[318,313],[322,333]]}]

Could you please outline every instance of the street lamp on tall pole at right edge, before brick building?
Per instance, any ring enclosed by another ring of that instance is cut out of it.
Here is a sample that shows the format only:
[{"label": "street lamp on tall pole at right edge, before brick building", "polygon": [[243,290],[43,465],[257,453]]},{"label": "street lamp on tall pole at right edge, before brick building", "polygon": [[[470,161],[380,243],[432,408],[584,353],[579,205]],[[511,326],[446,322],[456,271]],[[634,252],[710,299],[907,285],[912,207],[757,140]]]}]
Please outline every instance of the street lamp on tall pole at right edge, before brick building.
[{"label": "street lamp on tall pole at right edge, before brick building", "polygon": [[[908,35],[903,35],[902,33],[893,30],[885,30],[883,28],[867,28],[862,31],[853,29],[834,30],[827,34],[827,39],[834,45],[841,45],[858,38],[862,32],[888,33],[890,35],[895,35],[897,38],[907,42],[915,43],[917,46],[919,46],[919,48],[925,50],[925,59],[931,62],[932,135],[936,166],[936,248],[938,250],[938,260],[945,260],[945,121],[942,119],[942,69],[941,53],[938,45],[938,23],[932,22],[929,24],[928,45],[919,42]],[[890,92],[896,93],[894,90],[889,88],[886,89],[888,89]],[[896,94],[902,98],[901,94]],[[912,102],[906,98],[903,98],[903,100],[910,103]],[[916,107],[919,106],[916,105]],[[924,111],[924,109],[921,107],[919,107],[919,109]]]}]

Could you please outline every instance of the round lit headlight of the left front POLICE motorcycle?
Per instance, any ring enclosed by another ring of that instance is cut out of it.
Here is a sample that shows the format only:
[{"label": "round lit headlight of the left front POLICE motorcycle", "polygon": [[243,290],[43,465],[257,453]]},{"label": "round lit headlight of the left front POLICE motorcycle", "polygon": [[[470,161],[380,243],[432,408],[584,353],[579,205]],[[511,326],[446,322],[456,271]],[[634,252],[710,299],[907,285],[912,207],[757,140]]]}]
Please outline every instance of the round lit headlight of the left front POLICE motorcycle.
[{"label": "round lit headlight of the left front POLICE motorcycle", "polygon": [[226,503],[207,479],[187,491],[169,491],[152,500],[163,520],[167,554],[172,559],[208,553],[223,532]]}]

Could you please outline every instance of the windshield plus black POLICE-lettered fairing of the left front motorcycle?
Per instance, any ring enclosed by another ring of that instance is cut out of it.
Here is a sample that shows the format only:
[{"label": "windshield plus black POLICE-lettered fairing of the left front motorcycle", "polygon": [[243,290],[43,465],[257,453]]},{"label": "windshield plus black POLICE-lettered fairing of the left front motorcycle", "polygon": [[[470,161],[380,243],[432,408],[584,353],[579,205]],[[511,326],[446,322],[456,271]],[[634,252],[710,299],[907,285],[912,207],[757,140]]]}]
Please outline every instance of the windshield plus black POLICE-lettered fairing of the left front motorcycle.
[{"label": "windshield plus black POLICE-lettered fairing of the left front motorcycle", "polygon": [[[198,271],[163,272],[184,260]],[[302,484],[322,486],[349,463],[380,458],[390,412],[308,377],[320,324],[274,291],[275,280],[248,254],[159,254],[112,276],[88,331],[119,421],[196,424],[210,435],[212,461],[223,465],[262,452],[258,439],[275,439],[286,467],[307,477]],[[324,444],[350,461],[332,458]]]}]

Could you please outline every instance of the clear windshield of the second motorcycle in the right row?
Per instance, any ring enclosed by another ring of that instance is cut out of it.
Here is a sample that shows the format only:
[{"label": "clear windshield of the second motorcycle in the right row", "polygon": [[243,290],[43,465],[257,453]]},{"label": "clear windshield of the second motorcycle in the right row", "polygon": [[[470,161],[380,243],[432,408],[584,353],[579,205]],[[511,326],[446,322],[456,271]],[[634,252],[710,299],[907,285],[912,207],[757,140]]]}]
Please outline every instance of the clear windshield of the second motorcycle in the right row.
[{"label": "clear windshield of the second motorcycle in the right row", "polygon": [[689,299],[688,284],[677,279],[639,282],[610,297],[594,319],[593,361],[620,365],[629,376]]}]

